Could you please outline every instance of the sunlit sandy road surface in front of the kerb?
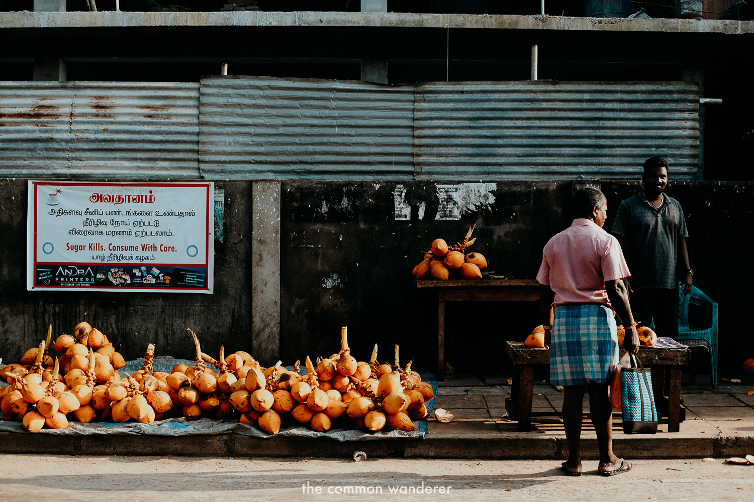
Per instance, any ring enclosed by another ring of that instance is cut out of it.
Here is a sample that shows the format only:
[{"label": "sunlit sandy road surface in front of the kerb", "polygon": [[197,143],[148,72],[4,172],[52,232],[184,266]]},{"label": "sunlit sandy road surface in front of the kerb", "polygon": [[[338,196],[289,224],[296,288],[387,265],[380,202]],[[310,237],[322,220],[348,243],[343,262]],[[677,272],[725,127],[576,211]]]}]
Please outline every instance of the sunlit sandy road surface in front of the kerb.
[{"label": "sunlit sandy road surface in front of the kerb", "polygon": [[[596,461],[584,464],[581,477],[562,476],[558,467],[556,461],[0,455],[0,500],[754,500],[754,466],[722,459],[636,461],[630,473],[613,477],[597,476]],[[431,495],[401,493],[422,482]],[[305,485],[314,493],[305,493]],[[440,486],[451,488],[443,494]],[[349,494],[347,487],[367,492]]]}]

